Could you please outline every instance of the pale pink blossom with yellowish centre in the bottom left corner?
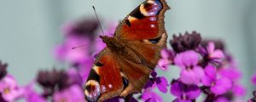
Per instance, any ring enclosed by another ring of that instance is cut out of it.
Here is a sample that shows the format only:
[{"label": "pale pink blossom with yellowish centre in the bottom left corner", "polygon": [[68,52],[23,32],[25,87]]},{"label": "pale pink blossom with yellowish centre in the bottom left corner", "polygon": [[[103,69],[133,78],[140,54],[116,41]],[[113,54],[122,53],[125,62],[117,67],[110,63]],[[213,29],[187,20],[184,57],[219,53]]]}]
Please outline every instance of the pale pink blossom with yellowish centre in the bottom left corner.
[{"label": "pale pink blossom with yellowish centre in the bottom left corner", "polygon": [[15,78],[10,75],[3,77],[1,80],[0,93],[6,101],[15,101],[15,99],[19,99],[22,95],[22,91],[15,81]]}]

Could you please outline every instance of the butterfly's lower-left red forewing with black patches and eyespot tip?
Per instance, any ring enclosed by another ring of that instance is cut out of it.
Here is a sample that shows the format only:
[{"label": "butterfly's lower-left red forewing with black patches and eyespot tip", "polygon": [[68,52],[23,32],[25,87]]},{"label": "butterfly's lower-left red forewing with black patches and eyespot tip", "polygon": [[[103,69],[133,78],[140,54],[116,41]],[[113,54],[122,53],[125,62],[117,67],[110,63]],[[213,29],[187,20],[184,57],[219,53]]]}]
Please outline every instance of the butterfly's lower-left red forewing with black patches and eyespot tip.
[{"label": "butterfly's lower-left red forewing with black patches and eyespot tip", "polygon": [[88,101],[102,101],[119,96],[123,90],[123,80],[119,71],[119,62],[105,48],[96,58],[85,83],[84,94]]}]

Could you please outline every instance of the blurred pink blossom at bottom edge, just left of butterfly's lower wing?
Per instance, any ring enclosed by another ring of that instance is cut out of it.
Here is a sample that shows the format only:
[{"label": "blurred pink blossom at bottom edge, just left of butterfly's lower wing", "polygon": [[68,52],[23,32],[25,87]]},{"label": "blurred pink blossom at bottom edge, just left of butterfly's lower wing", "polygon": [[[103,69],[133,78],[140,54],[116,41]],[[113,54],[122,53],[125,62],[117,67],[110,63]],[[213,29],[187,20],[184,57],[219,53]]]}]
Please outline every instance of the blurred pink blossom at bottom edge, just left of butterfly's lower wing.
[{"label": "blurred pink blossom at bottom edge, just left of butterfly's lower wing", "polygon": [[55,92],[53,100],[55,102],[85,102],[82,88],[78,85],[73,85],[60,92]]}]

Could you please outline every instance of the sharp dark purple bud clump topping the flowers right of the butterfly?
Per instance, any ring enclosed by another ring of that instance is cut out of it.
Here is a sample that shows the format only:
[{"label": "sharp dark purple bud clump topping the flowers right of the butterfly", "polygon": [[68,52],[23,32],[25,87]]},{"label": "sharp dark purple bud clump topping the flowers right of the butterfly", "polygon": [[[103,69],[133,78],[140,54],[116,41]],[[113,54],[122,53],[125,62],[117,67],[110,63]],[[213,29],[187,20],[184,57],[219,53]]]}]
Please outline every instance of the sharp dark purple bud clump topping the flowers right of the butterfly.
[{"label": "sharp dark purple bud clump topping the flowers right of the butterfly", "polygon": [[171,45],[176,53],[180,53],[186,50],[195,49],[201,43],[201,35],[196,31],[192,31],[191,34],[186,32],[184,35],[179,34],[177,37],[173,35]]}]

